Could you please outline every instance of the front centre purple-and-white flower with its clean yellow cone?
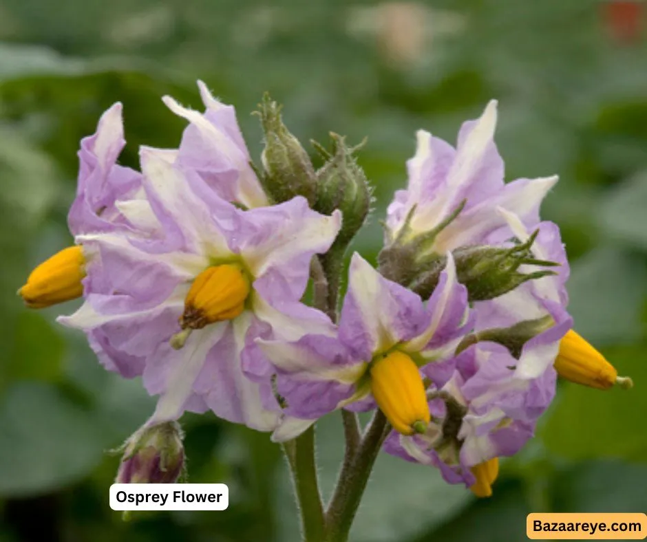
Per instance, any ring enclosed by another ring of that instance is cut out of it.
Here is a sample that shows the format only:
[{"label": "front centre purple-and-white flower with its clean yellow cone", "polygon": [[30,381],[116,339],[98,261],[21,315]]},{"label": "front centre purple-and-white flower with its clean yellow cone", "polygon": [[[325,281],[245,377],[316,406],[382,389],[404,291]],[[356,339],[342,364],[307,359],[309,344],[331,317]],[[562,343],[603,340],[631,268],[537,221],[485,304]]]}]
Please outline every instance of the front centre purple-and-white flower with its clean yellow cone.
[{"label": "front centre purple-and-white flower with its clean yellow cone", "polygon": [[377,406],[396,431],[413,435],[430,422],[421,369],[452,356],[469,325],[467,292],[451,256],[425,306],[354,254],[336,337],[257,342],[275,366],[286,414],[319,418]]}]

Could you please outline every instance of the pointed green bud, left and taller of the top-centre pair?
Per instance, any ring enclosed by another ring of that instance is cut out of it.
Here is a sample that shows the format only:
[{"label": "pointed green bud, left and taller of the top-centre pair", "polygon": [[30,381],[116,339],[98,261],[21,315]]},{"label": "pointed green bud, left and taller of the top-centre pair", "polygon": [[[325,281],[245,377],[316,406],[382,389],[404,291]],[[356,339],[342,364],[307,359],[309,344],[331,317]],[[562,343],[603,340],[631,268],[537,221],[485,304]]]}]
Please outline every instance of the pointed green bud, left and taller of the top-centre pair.
[{"label": "pointed green bud, left and taller of the top-centre pair", "polygon": [[316,175],[308,153],[288,131],[281,118],[281,106],[268,94],[259,104],[257,114],[265,133],[262,184],[275,202],[286,202],[304,196],[310,206],[315,202]]}]

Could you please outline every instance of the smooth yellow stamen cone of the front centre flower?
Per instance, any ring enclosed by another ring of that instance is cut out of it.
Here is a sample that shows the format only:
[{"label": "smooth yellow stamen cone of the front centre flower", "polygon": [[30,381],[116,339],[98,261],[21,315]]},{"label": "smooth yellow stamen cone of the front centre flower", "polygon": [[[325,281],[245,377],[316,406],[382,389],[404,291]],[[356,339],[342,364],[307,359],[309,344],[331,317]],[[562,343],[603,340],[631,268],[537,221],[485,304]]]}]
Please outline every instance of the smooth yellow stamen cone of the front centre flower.
[{"label": "smooth yellow stamen cone of the front centre flower", "polygon": [[393,429],[403,435],[424,433],[431,420],[423,379],[414,361],[399,351],[370,367],[371,391]]}]

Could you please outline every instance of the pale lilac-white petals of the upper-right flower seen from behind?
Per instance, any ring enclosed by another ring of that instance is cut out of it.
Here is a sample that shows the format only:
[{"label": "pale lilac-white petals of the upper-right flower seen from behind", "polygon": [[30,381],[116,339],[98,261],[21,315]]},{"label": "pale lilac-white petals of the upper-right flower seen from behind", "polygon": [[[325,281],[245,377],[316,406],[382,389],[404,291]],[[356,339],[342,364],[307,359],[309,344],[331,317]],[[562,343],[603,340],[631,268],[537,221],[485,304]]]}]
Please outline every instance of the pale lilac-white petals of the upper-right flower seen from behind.
[{"label": "pale lilac-white petals of the upper-right flower seen from behind", "polygon": [[390,240],[413,206],[410,236],[433,230],[465,201],[458,217],[436,236],[437,254],[487,243],[488,238],[497,237],[500,242],[511,237],[505,219],[496,213],[498,206],[517,213],[530,227],[538,224],[539,206],[557,177],[505,184],[504,164],[494,144],[495,127],[496,101],[492,100],[478,120],[463,124],[456,151],[418,131],[416,155],[407,162],[409,186],[396,193],[387,210]]}]

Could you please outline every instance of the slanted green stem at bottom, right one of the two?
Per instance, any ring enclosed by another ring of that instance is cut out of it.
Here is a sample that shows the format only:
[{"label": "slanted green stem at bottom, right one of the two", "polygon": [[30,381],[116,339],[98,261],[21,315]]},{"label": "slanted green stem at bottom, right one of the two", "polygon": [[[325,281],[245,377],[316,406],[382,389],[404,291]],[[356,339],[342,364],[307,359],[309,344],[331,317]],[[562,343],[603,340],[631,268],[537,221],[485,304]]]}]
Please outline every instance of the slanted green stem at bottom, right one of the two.
[{"label": "slanted green stem at bottom, right one of the two", "polygon": [[352,521],[368,483],[375,459],[388,434],[388,425],[381,411],[376,411],[361,444],[352,457],[345,459],[335,492],[326,512],[326,541],[346,542]]}]

